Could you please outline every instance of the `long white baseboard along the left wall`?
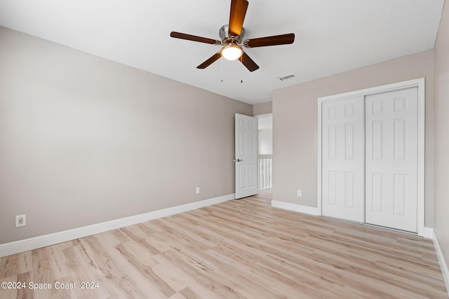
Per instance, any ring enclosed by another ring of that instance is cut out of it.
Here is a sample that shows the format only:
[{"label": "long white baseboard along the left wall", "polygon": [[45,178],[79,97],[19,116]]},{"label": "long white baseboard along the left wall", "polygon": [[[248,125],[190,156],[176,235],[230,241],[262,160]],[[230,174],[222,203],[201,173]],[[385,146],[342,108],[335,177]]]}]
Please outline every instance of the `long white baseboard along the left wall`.
[{"label": "long white baseboard along the left wall", "polygon": [[116,228],[123,228],[128,225],[134,225],[145,221],[151,221],[157,218],[179,214],[185,211],[191,211],[192,209],[207,207],[212,204],[218,204],[220,202],[227,202],[228,200],[234,200],[235,198],[236,195],[234,193],[220,197],[210,198],[208,200],[201,200],[199,202],[182,204],[177,207],[170,207],[158,211],[150,211],[149,213],[145,214],[129,216],[126,218],[120,218],[112,221],[106,221],[93,225],[83,226],[81,228],[74,228],[72,230],[54,232],[53,234],[49,235],[32,237],[29,239],[22,239],[15,242],[0,244],[0,258],[3,256],[10,256],[11,254],[15,253],[38,249],[44,246],[51,246],[61,242],[71,241],[73,239],[78,239],[81,237],[95,235],[100,232],[107,232],[108,230],[115,230]]}]

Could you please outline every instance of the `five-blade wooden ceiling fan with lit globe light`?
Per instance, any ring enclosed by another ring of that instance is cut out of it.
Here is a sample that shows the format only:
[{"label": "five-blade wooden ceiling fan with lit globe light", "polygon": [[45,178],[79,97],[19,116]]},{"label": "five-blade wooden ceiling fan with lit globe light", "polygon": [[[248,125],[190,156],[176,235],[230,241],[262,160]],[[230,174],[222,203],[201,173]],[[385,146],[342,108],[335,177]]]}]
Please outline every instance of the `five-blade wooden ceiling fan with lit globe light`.
[{"label": "five-blade wooden ceiling fan with lit globe light", "polygon": [[281,34],[275,36],[260,37],[258,39],[247,39],[243,41],[245,30],[243,29],[243,20],[245,20],[246,9],[248,8],[247,0],[232,0],[231,13],[229,14],[229,24],[220,28],[219,34],[221,41],[208,39],[206,37],[194,36],[180,32],[171,32],[170,36],[176,39],[187,39],[188,41],[198,41],[200,43],[210,43],[212,45],[222,46],[221,50],[215,53],[208,60],[200,64],[197,69],[206,69],[220,57],[227,60],[240,60],[241,63],[249,70],[255,71],[259,66],[243,52],[242,46],[245,48],[256,48],[265,46],[286,45],[295,41],[295,34]]}]

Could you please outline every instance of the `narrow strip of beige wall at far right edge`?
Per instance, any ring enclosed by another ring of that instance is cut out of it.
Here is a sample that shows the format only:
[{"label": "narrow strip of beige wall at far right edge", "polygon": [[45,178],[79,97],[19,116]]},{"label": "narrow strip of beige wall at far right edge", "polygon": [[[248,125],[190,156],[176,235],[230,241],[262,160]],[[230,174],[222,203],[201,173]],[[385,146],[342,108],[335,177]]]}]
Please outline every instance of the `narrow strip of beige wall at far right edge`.
[{"label": "narrow strip of beige wall at far right edge", "polygon": [[[435,45],[435,235],[449,263],[449,4]],[[449,266],[449,265],[448,265]]]}]

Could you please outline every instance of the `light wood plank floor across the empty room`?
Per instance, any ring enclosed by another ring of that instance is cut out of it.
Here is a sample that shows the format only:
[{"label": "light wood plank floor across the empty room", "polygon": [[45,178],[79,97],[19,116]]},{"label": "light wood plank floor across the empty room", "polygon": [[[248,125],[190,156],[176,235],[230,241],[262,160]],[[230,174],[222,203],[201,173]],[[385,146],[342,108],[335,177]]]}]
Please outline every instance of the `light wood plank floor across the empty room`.
[{"label": "light wood plank floor across the empty room", "polygon": [[27,288],[0,298],[448,298],[431,240],[270,201],[262,193],[1,258],[0,281]]}]

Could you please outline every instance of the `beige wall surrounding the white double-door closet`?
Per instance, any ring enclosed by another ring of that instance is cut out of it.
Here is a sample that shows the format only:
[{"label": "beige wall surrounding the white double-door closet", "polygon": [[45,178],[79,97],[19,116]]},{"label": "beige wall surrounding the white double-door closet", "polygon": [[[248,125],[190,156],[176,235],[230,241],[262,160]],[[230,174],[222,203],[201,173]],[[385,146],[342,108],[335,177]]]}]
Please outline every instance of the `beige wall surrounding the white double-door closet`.
[{"label": "beige wall surrounding the white double-door closet", "polygon": [[[425,224],[434,223],[434,51],[400,57],[273,94],[273,199],[317,207],[318,97],[426,78]],[[302,197],[296,190],[302,190]]]}]

